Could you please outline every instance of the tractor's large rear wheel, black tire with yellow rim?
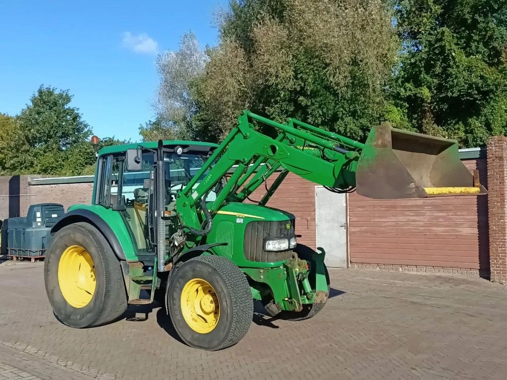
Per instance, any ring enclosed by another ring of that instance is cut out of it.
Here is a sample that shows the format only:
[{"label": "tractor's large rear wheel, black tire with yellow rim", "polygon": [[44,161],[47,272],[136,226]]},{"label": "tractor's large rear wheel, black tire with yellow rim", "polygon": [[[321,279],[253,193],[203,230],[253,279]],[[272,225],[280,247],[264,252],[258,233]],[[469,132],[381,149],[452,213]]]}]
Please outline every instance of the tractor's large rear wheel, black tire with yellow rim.
[{"label": "tractor's large rear wheel, black tire with yellow rim", "polygon": [[56,318],[70,327],[110,323],[127,309],[120,263],[104,236],[88,223],[69,224],[55,234],[44,282]]}]

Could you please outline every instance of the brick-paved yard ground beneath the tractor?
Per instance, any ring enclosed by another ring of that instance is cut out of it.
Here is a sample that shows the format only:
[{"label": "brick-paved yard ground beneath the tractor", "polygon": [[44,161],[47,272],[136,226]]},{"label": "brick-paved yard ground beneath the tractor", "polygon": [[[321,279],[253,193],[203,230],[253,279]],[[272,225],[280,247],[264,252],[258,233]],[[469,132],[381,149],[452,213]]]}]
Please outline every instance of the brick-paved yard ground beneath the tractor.
[{"label": "brick-paved yard ground beneath the tractor", "polygon": [[507,379],[507,288],[478,278],[331,271],[314,319],[257,314],[238,345],[210,353],[181,343],[158,305],[63,326],[42,270],[0,265],[0,380]]}]

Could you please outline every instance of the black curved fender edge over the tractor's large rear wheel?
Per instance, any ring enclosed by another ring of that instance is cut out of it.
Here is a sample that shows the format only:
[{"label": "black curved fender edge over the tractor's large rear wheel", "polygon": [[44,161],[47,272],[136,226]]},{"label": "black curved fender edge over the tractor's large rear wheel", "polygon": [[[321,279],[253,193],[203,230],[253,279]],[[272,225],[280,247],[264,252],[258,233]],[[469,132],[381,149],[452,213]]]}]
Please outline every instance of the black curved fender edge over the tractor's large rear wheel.
[{"label": "black curved fender edge over the tractor's large rear wheel", "polygon": [[111,227],[99,215],[90,210],[77,209],[67,212],[56,222],[50,233],[51,235],[54,235],[57,231],[61,230],[62,227],[77,222],[86,222],[93,225],[102,235],[104,235],[104,238],[111,245],[111,248],[113,248],[113,252],[115,252],[116,257],[120,260],[125,260],[125,252],[123,251],[123,248]]}]

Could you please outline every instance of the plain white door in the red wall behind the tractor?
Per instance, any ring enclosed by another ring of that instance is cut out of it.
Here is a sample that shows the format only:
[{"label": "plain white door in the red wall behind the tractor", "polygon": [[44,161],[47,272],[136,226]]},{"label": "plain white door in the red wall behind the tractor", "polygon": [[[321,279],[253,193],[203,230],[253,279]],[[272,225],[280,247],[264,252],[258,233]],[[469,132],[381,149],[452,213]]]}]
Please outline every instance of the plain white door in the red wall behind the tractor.
[{"label": "plain white door in the red wall behind the tractor", "polygon": [[347,268],[347,215],[345,194],[315,186],[315,219],[317,247],[325,251],[325,264]]}]

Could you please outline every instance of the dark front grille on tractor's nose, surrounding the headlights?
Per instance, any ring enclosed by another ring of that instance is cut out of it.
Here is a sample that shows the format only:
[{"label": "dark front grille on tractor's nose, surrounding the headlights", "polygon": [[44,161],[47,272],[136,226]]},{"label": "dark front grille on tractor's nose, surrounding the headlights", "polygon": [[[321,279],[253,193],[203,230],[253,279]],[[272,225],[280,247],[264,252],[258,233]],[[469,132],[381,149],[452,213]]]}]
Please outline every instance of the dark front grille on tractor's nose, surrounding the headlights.
[{"label": "dark front grille on tractor's nose, surrounding the headlights", "polygon": [[[289,228],[287,229],[287,224]],[[249,261],[274,262],[292,257],[292,250],[268,252],[264,250],[264,239],[294,236],[295,220],[251,221],[246,225],[243,252]]]}]

